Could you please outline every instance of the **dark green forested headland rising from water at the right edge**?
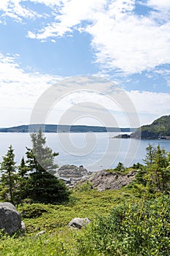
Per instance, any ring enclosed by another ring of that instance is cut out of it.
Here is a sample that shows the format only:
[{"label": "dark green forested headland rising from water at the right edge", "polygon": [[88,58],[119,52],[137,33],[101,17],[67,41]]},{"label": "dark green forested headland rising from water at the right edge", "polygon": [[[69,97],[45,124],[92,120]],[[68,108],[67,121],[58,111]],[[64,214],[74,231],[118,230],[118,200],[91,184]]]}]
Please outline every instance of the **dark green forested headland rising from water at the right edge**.
[{"label": "dark green forested headland rising from water at the right edge", "polygon": [[161,116],[161,118],[153,121],[152,124],[139,127],[130,137],[142,139],[170,139],[170,115]]}]

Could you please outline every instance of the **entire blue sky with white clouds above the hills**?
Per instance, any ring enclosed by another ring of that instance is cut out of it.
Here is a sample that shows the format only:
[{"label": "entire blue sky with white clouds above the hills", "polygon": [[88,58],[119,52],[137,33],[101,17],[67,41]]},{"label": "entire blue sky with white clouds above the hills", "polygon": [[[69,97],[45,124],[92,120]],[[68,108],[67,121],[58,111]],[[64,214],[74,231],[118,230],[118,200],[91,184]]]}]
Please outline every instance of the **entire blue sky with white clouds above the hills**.
[{"label": "entire blue sky with white clouds above the hills", "polygon": [[169,0],[1,0],[0,34],[0,127],[29,124],[54,84],[48,124],[105,126],[101,108],[120,127],[170,114]]}]

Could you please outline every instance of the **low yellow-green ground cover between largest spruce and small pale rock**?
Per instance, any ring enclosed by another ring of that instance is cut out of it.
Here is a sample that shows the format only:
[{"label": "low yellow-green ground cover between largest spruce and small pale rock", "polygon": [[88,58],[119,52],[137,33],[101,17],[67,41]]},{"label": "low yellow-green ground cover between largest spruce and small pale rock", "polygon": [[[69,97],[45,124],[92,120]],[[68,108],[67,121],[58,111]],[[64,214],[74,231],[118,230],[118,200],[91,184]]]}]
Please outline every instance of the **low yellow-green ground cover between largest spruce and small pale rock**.
[{"label": "low yellow-green ground cover between largest spruce and small pale rock", "polygon": [[[18,207],[24,213],[23,222],[26,224],[26,233],[35,233],[39,230],[61,230],[66,227],[74,217],[88,217],[95,219],[96,214],[106,215],[115,204],[123,198],[131,197],[127,192],[105,191],[74,192],[71,201],[66,205],[32,204]],[[41,210],[45,212],[41,213]],[[35,213],[34,213],[35,212]],[[40,216],[39,216],[40,213]],[[31,215],[31,217],[30,217]],[[39,217],[36,217],[39,216]],[[34,218],[32,218],[32,216]]]}]

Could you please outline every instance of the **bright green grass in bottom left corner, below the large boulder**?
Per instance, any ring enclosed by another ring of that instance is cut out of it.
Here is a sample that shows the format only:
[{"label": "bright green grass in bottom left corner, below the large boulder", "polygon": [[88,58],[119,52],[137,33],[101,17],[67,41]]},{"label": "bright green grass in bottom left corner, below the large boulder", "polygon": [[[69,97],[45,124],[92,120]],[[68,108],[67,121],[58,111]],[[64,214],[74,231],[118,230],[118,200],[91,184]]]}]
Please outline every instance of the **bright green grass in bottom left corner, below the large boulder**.
[{"label": "bright green grass in bottom left corner, below the large boulder", "polygon": [[59,233],[45,233],[38,238],[24,236],[11,238],[4,236],[1,240],[0,255],[3,256],[75,256],[74,238],[72,230],[64,230]]}]

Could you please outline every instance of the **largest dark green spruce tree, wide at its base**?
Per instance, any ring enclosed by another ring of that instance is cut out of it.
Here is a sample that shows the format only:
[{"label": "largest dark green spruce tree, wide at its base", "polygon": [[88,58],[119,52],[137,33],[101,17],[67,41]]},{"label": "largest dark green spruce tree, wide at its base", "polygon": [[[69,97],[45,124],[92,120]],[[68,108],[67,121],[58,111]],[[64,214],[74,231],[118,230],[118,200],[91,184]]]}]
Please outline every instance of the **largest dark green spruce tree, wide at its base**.
[{"label": "largest dark green spruce tree, wide at its base", "polygon": [[62,203],[69,199],[69,190],[63,181],[51,175],[58,165],[54,159],[58,153],[45,146],[46,138],[40,129],[31,134],[32,148],[27,148],[26,156],[29,178],[26,183],[27,197],[39,203]]}]

